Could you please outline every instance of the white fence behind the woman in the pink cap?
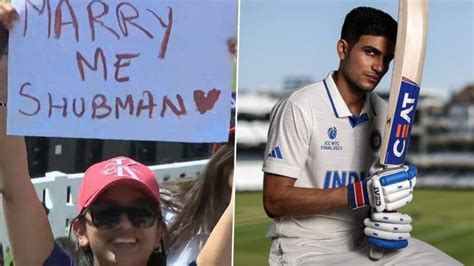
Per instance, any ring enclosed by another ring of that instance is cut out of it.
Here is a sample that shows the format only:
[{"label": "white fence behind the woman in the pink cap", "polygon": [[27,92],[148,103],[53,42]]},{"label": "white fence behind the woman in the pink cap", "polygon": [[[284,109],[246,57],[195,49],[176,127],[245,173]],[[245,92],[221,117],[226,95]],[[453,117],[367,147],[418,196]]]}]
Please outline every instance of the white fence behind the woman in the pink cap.
[{"label": "white fence behind the woman in the pink cap", "polygon": [[[158,182],[198,177],[207,165],[208,160],[184,163],[173,163],[150,166]],[[32,179],[36,194],[48,209],[48,218],[54,237],[64,236],[68,222],[76,213],[76,199],[84,173],[65,174],[62,172],[46,173],[45,177]],[[0,196],[1,199],[1,196]],[[8,246],[2,204],[0,204],[0,243]]]}]

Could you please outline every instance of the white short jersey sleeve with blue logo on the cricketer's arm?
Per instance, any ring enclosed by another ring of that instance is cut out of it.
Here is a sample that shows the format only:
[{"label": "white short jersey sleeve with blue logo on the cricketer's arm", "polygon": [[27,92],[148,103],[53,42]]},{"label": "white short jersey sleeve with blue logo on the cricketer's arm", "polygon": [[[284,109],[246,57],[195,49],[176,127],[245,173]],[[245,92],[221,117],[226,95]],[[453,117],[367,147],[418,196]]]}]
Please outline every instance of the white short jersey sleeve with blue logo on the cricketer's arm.
[{"label": "white short jersey sleeve with blue logo on the cricketer's arm", "polygon": [[306,162],[311,140],[310,116],[288,99],[272,110],[263,171],[298,178]]}]

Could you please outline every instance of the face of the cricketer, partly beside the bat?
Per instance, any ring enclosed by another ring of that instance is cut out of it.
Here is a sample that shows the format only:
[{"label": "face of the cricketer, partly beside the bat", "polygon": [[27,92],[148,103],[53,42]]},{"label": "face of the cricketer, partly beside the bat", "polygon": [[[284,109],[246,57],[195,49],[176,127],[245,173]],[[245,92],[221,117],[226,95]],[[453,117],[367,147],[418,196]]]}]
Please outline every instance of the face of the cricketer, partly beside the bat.
[{"label": "face of the cricketer, partly beside the bat", "polygon": [[372,91],[388,71],[395,44],[386,37],[362,35],[348,47],[340,70],[353,86]]}]

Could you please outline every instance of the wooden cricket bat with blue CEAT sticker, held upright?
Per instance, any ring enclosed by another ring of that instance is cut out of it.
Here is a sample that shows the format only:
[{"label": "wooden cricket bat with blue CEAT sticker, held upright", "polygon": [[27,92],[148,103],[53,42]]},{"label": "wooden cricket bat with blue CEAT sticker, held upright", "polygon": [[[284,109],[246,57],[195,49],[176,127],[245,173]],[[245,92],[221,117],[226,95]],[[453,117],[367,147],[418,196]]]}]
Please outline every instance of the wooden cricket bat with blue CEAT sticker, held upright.
[{"label": "wooden cricket bat with blue CEAT sticker, held upright", "polygon": [[[405,162],[423,75],[427,33],[428,0],[400,0],[387,122],[380,148],[380,164],[385,168]],[[372,246],[370,257],[382,256],[383,250]]]}]

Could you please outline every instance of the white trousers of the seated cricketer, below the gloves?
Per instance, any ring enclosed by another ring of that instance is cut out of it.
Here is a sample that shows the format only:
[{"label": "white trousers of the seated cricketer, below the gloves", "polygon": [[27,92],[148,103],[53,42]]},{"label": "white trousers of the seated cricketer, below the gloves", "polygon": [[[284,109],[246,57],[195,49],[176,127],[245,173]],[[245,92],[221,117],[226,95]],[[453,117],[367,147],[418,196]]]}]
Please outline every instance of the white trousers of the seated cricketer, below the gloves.
[{"label": "white trousers of the seated cricketer, below the gloves", "polygon": [[348,239],[312,240],[276,238],[269,263],[276,265],[462,265],[439,249],[415,238],[408,247],[385,251],[377,260],[369,258],[371,246],[363,236]]}]

